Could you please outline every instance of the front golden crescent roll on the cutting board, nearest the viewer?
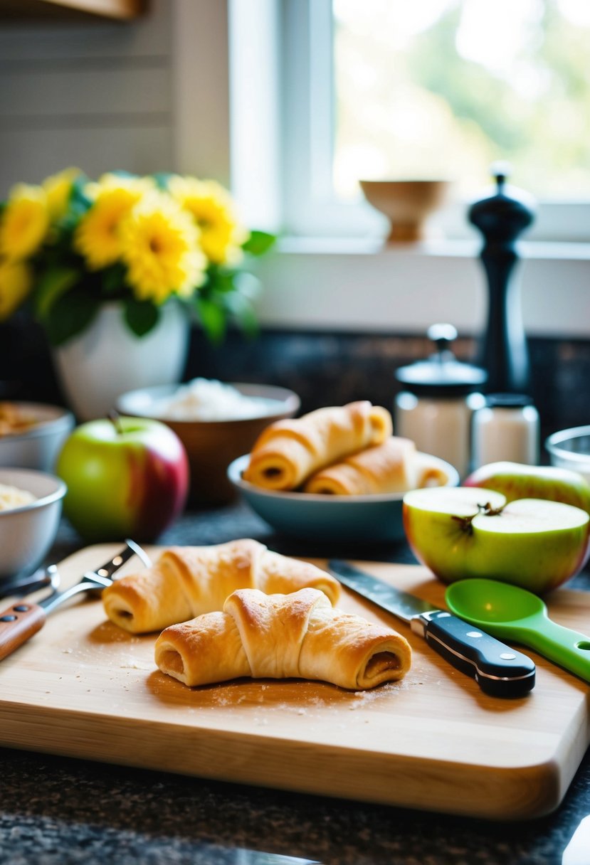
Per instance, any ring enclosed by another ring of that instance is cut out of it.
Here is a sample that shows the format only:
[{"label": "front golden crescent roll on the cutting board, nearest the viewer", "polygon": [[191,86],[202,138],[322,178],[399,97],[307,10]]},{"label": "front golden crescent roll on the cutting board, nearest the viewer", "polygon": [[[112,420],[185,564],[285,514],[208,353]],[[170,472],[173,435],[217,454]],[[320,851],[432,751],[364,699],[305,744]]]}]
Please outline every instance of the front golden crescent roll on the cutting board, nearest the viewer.
[{"label": "front golden crescent roll on the cutting board, nearest the viewer", "polygon": [[251,676],[364,690],[405,676],[411,650],[397,631],[331,606],[317,589],[239,589],[223,612],[166,628],[155,658],[163,673],[190,687]]}]

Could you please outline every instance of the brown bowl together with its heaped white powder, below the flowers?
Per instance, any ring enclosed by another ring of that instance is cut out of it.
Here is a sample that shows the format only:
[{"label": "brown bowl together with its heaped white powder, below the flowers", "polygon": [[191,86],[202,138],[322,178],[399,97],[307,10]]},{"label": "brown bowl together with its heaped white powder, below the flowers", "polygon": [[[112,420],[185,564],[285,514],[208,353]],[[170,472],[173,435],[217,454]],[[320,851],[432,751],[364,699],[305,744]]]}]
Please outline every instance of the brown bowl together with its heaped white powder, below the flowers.
[{"label": "brown bowl together with its heaped white powder, below the flowers", "polygon": [[121,414],[162,420],[189,457],[192,504],[223,504],[236,496],[228,465],[251,450],[260,432],[298,412],[298,395],[273,385],[196,378],[180,385],[129,391]]}]

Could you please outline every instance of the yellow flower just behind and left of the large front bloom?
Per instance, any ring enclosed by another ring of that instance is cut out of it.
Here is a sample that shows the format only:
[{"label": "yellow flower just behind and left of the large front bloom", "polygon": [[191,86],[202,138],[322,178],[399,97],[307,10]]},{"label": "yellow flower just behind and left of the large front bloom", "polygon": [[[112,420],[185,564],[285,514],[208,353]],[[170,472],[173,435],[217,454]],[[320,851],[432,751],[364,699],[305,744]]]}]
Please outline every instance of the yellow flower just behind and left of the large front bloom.
[{"label": "yellow flower just behind and left of the large front bloom", "polygon": [[74,234],[74,247],[91,270],[114,264],[121,255],[119,228],[131,208],[154,189],[149,178],[106,174],[98,183],[88,183],[93,205],[82,217]]}]

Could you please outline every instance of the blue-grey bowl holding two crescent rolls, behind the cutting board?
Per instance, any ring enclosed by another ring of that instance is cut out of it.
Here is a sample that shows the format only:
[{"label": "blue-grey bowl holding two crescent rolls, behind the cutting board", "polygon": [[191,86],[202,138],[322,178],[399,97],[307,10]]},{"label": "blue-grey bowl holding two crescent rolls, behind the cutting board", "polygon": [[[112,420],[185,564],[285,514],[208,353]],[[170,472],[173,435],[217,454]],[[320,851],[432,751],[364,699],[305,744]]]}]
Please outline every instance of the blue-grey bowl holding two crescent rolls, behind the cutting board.
[{"label": "blue-grey bowl holding two crescent rolls, behind the cutting board", "polygon": [[[228,477],[250,507],[278,532],[314,541],[379,543],[405,537],[401,517],[404,494],[377,496],[312,496],[303,492],[275,492],[248,484],[241,476],[249,454],[235,459]],[[448,477],[447,486],[459,484],[458,472],[432,457]]]}]

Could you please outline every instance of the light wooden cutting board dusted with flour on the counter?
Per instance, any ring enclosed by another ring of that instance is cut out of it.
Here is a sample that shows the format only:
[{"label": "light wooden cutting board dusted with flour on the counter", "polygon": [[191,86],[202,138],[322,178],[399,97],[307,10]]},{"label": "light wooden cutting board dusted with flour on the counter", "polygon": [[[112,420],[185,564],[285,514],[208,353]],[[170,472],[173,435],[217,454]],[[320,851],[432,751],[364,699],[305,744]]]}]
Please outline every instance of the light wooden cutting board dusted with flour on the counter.
[{"label": "light wooden cutting board dusted with flour on the counter", "polygon": [[[117,549],[70,556],[62,585]],[[425,568],[360,564],[443,604],[445,587]],[[188,689],[157,670],[155,635],[121,631],[99,599],[70,602],[0,663],[0,744],[492,819],[555,809],[590,741],[590,686],[525,650],[537,664],[532,693],[488,697],[388,613],[347,592],[339,606],[407,637],[402,682],[357,693],[295,680]],[[560,589],[549,607],[590,632],[590,594]]]}]

